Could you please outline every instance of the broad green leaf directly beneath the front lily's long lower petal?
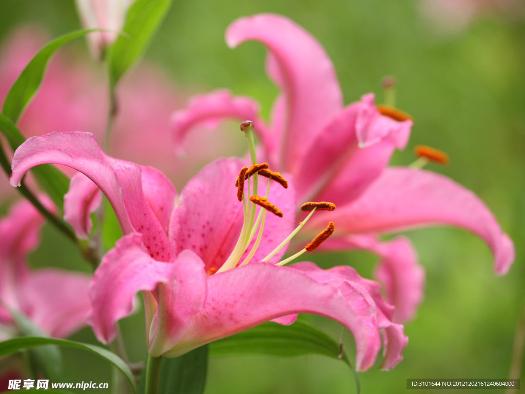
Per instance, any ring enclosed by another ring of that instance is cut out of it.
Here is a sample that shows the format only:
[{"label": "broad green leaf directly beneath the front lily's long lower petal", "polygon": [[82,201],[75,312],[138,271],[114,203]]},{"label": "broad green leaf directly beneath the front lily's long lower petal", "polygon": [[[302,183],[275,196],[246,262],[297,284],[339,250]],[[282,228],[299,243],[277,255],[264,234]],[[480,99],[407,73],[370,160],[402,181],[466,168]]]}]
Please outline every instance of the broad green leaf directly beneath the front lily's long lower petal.
[{"label": "broad green leaf directly beneath the front lily's long lower petal", "polygon": [[359,394],[359,379],[346,353],[339,343],[321,330],[296,320],[290,326],[268,322],[243,333],[215,341],[209,345],[210,356],[258,353],[272,356],[301,356],[319,354],[340,359],[350,367]]}]

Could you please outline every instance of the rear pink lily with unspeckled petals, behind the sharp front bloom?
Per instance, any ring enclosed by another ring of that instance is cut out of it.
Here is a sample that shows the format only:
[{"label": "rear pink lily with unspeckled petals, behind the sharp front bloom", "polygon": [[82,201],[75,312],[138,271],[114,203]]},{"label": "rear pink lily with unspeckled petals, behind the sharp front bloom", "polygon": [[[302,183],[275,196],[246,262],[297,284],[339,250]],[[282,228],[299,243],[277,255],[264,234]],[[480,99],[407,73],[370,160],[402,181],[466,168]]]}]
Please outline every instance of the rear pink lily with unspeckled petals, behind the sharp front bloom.
[{"label": "rear pink lily with unspeckled petals, behind the sharp front bloom", "polygon": [[195,97],[174,113],[176,150],[201,123],[253,119],[265,160],[291,174],[297,207],[310,200],[338,206],[306,226],[318,231],[328,217],[335,222],[334,236],[322,247],[361,248],[381,257],[376,278],[396,307],[395,322],[414,316],[423,299],[424,269],[408,239],[398,237],[383,244],[374,234],[429,224],[460,226],[487,243],[497,275],[509,270],[514,260],[512,242],[476,195],[442,175],[387,167],[394,150],[406,146],[410,119],[393,108],[376,107],[373,94],[343,107],[328,55],[314,37],[286,17],[259,14],[240,18],[227,28],[229,47],[247,40],[267,47],[267,73],[280,89],[269,126],[259,118],[256,101],[218,90]]}]

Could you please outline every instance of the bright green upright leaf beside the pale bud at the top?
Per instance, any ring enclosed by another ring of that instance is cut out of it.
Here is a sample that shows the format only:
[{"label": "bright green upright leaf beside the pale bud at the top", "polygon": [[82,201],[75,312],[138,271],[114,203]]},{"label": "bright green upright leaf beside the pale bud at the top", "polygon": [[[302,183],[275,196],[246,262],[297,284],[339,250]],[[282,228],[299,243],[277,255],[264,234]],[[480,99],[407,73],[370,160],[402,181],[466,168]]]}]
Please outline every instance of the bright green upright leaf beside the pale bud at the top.
[{"label": "bright green upright leaf beside the pale bud at the top", "polygon": [[122,28],[123,34],[115,40],[108,53],[111,91],[144,53],[170,4],[171,0],[137,0],[131,5]]}]

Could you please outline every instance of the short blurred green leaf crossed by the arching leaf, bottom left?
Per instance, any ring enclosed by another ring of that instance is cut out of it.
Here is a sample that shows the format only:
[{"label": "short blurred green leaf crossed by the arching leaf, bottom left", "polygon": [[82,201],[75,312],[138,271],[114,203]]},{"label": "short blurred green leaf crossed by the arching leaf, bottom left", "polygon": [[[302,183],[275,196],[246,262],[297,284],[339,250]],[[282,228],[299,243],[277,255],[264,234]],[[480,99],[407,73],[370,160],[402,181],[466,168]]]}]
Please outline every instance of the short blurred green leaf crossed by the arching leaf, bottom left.
[{"label": "short blurred green leaf crossed by the arching leaf, bottom left", "polygon": [[[38,327],[29,321],[23,314],[9,310],[20,333],[25,336],[47,337]],[[40,346],[28,352],[29,363],[35,372],[42,374],[50,380],[58,381],[62,371],[62,356],[56,345]],[[35,374],[35,375],[37,375]]]}]

